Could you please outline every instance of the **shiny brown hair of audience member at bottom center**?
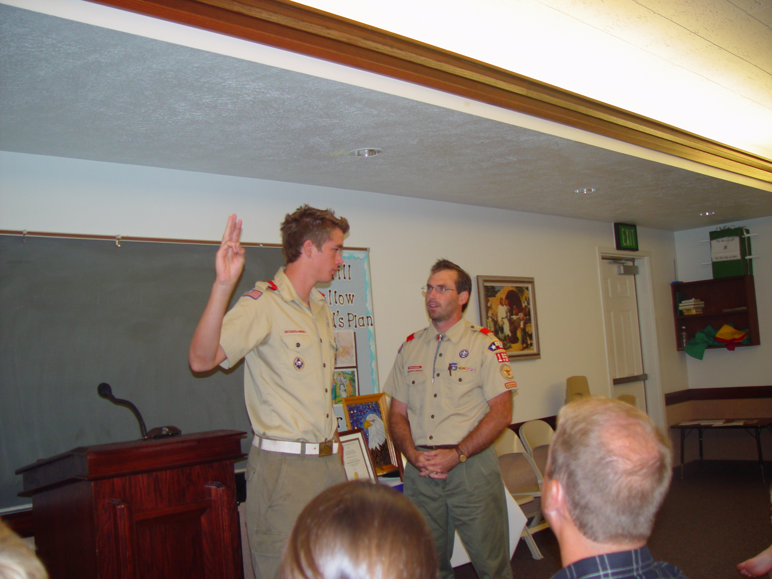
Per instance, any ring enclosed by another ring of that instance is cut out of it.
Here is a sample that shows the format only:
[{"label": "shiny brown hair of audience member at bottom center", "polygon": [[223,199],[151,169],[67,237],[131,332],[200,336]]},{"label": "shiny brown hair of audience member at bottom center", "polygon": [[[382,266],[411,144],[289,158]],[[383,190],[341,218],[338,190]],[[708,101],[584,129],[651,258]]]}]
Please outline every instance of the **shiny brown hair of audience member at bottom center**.
[{"label": "shiny brown hair of audience member at bottom center", "polygon": [[388,486],[343,482],[298,517],[283,579],[436,579],[432,534],[410,499]]}]

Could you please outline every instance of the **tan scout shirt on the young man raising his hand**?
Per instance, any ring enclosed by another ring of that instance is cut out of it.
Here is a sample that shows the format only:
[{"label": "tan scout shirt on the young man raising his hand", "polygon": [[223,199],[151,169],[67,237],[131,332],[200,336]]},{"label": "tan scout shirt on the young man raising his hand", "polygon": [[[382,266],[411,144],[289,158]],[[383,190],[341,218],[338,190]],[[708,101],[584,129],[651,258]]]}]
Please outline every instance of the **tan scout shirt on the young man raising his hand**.
[{"label": "tan scout shirt on the young man raising his hand", "polygon": [[245,357],[244,398],[257,435],[304,442],[334,435],[332,313],[317,289],[309,301],[310,309],[280,268],[225,314],[220,345],[228,358],[220,365]]}]

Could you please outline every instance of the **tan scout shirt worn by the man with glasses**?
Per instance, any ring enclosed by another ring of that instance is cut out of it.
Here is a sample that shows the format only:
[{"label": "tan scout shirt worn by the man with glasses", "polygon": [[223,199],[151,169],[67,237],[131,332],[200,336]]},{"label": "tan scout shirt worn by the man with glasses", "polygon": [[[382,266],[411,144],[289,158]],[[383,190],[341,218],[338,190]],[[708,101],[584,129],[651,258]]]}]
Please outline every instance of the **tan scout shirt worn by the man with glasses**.
[{"label": "tan scout shirt worn by the man with glasses", "polygon": [[489,330],[462,319],[439,335],[429,326],[409,336],[384,384],[408,405],[415,445],[458,444],[491,398],[517,388],[503,344]]}]

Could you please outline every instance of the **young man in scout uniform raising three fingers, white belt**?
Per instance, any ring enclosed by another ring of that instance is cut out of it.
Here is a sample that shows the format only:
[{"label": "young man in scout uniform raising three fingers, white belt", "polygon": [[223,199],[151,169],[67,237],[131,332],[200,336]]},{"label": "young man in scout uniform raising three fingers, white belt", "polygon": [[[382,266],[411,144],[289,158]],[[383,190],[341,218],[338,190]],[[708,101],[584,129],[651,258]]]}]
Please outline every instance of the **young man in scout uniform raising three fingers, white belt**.
[{"label": "young man in scout uniform raising three fingers, white belt", "polygon": [[189,354],[194,371],[227,369],[245,358],[244,395],[255,438],[247,462],[247,529],[259,579],[279,577],[289,532],[303,507],[346,477],[331,388],[333,319],[314,289],[343,263],[345,218],[303,205],[281,226],[286,268],[258,282],[227,314],[244,267],[242,222],[228,219],[216,278]]}]

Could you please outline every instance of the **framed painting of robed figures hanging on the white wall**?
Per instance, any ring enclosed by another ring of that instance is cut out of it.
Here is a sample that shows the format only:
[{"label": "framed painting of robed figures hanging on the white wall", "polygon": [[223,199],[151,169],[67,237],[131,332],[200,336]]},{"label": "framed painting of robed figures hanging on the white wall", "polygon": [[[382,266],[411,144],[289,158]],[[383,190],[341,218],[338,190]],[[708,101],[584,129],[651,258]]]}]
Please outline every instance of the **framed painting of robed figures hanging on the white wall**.
[{"label": "framed painting of robed figures hanging on the white wall", "polygon": [[502,341],[510,361],[541,357],[533,277],[477,276],[480,325]]}]

